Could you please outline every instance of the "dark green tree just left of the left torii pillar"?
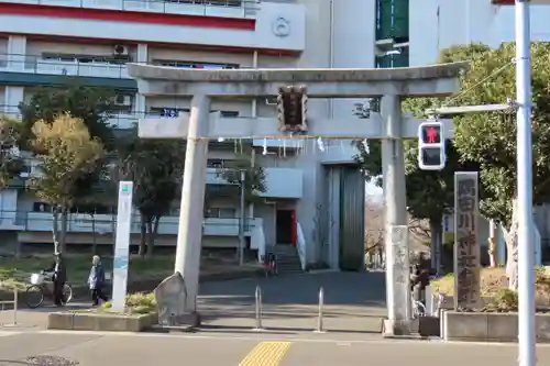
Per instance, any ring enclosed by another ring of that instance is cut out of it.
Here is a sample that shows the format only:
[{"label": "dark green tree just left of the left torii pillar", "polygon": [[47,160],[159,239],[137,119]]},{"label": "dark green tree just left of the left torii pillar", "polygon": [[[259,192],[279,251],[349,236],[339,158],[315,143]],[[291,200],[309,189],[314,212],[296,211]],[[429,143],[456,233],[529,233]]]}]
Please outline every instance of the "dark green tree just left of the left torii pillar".
[{"label": "dark green tree just left of the left torii pillar", "polygon": [[133,203],[141,217],[139,254],[151,257],[161,218],[179,193],[185,146],[174,140],[140,140],[134,131],[119,144],[117,159],[118,178],[134,182]]}]

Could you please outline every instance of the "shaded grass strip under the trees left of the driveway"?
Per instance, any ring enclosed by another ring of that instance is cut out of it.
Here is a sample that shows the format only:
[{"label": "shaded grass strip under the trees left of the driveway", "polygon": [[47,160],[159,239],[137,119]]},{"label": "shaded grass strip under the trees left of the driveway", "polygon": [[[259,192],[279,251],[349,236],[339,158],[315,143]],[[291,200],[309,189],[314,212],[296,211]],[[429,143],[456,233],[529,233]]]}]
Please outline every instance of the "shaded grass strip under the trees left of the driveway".
[{"label": "shaded grass strip under the trees left of the driveway", "polygon": [[[86,286],[91,267],[91,255],[67,254],[68,282],[73,286]],[[107,271],[112,270],[112,257],[101,257]],[[16,287],[24,289],[31,274],[52,266],[52,255],[36,255],[32,257],[14,258],[0,257],[0,289]],[[240,268],[233,257],[204,257],[201,259],[201,275],[219,274]],[[242,268],[241,268],[242,269]],[[161,279],[174,273],[174,255],[157,255],[151,259],[139,256],[130,257],[129,281]]]}]

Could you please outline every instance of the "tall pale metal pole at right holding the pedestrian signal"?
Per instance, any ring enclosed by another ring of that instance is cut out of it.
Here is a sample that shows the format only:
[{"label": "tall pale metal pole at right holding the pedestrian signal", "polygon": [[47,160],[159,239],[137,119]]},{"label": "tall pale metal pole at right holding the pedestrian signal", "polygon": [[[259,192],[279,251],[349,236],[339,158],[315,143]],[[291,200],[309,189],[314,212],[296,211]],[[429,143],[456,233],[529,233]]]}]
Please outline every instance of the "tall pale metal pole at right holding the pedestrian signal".
[{"label": "tall pale metal pole at right holding the pedestrian signal", "polygon": [[535,248],[532,235],[531,62],[528,0],[516,0],[518,343],[519,366],[535,366]]}]

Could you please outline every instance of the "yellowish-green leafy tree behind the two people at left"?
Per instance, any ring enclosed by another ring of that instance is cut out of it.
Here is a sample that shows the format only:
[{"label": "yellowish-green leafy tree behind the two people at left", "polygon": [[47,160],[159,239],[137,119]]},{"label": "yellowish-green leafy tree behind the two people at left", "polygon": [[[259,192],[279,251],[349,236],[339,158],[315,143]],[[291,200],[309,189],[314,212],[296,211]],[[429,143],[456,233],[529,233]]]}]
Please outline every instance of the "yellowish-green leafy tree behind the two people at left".
[{"label": "yellowish-green leafy tree behind the two people at left", "polygon": [[40,120],[32,133],[32,146],[42,152],[37,155],[42,164],[40,174],[31,178],[31,187],[53,207],[54,245],[57,252],[64,252],[68,210],[79,196],[82,181],[103,157],[103,145],[90,136],[82,120],[69,114],[61,114],[52,123]]}]

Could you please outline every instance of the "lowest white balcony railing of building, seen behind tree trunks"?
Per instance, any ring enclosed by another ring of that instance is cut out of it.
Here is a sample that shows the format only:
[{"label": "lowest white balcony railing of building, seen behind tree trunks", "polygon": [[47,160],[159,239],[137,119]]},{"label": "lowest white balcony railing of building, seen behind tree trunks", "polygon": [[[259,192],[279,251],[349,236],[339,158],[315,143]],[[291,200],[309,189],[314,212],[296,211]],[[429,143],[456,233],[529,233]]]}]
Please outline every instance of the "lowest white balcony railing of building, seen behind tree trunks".
[{"label": "lowest white balcony railing of building, seen behind tree trunks", "polygon": [[[204,220],[204,234],[208,236],[239,236],[240,219],[207,218]],[[177,235],[179,218],[163,217],[158,224],[158,235]],[[262,225],[262,219],[250,218],[245,222],[245,235],[251,235],[254,228]],[[117,215],[72,213],[68,218],[68,233],[96,233],[109,235],[116,232]],[[50,212],[2,212],[0,230],[25,232],[51,232],[52,213]],[[131,233],[140,234],[140,215],[132,218]]]}]

